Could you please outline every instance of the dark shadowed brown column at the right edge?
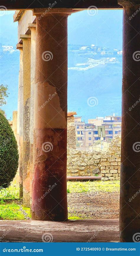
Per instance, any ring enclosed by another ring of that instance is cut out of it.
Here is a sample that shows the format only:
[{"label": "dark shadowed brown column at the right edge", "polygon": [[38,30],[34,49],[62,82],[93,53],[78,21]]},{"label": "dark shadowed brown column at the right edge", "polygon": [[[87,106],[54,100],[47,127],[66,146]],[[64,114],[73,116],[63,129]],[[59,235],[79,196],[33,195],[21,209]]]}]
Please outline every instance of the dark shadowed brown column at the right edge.
[{"label": "dark shadowed brown column at the right edge", "polygon": [[138,242],[140,230],[140,1],[119,1],[119,4],[123,5],[120,242]]}]

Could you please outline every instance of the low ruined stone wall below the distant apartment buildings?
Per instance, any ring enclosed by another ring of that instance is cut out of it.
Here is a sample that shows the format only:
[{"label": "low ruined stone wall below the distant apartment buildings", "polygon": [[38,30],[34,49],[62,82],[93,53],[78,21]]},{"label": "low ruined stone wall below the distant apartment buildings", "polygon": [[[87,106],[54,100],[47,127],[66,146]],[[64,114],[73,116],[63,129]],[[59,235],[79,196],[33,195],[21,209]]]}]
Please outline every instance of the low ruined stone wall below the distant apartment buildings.
[{"label": "low ruined stone wall below the distant apartment buildings", "polygon": [[119,180],[121,138],[117,136],[108,152],[83,151],[68,148],[67,176],[102,176],[102,180]]}]

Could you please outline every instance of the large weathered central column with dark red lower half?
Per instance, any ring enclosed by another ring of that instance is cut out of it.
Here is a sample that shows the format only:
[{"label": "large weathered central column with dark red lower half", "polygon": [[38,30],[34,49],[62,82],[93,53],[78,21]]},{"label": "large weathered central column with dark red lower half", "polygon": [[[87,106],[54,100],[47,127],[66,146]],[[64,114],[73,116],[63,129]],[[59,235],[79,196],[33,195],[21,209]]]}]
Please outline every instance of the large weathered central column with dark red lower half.
[{"label": "large weathered central column with dark red lower half", "polygon": [[65,221],[67,17],[70,10],[45,11],[33,11],[37,24],[32,219]]}]

